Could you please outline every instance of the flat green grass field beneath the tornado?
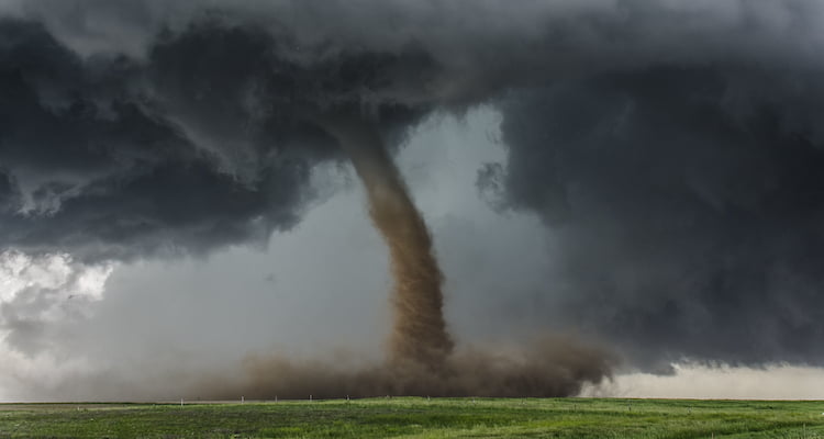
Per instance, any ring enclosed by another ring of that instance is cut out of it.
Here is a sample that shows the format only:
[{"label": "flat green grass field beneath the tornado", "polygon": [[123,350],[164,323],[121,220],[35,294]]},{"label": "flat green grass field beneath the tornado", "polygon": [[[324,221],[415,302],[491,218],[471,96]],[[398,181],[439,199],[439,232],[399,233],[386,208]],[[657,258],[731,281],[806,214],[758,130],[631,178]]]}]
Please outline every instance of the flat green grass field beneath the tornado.
[{"label": "flat green grass field beneath the tornado", "polygon": [[0,404],[0,438],[824,438],[824,402]]}]

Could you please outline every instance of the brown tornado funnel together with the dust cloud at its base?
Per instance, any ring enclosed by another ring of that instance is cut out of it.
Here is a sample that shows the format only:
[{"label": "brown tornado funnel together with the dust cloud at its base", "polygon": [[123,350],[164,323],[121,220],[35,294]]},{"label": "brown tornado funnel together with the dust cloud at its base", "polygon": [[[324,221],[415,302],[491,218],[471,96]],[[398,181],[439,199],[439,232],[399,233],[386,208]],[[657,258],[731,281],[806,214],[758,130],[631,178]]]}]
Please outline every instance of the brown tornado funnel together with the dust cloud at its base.
[{"label": "brown tornado funnel together with the dust cloud at its base", "polygon": [[372,223],[389,247],[394,286],[388,357],[382,364],[347,369],[253,356],[245,361],[242,390],[216,390],[216,397],[564,396],[611,376],[611,353],[569,337],[543,337],[525,350],[456,350],[443,316],[443,275],[431,235],[378,133],[353,116],[325,117],[321,125],[352,158]]}]

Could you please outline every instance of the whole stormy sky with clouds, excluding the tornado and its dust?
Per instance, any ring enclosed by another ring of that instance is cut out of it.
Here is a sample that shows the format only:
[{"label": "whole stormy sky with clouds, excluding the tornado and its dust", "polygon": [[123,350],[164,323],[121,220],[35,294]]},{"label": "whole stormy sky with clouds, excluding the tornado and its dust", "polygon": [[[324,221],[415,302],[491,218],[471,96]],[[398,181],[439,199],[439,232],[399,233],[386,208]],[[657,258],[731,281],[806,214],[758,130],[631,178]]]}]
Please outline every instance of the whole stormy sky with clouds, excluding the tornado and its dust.
[{"label": "whole stormy sky with clouds, excluding the tornado and its dust", "polygon": [[[171,4],[169,4],[171,3]],[[0,0],[0,399],[380,362],[383,142],[456,345],[574,337],[584,394],[822,398],[824,5]]]}]

